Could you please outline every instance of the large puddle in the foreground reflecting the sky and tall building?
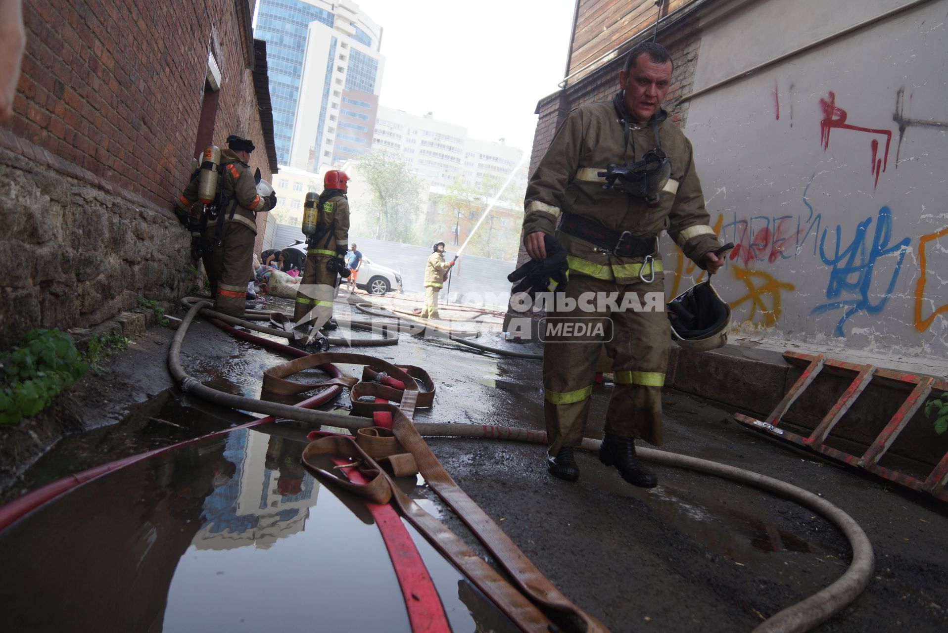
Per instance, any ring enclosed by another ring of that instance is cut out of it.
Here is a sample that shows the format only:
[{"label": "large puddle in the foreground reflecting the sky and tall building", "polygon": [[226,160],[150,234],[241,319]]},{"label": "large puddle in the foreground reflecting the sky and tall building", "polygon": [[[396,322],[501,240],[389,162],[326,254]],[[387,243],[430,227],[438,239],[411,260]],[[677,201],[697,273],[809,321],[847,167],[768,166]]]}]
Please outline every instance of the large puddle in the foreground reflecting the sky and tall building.
[{"label": "large puddle in the foreground reflecting the sky and tall building", "polygon": [[[236,429],[181,446],[10,526],[0,534],[5,624],[100,630],[107,614],[122,631],[409,631],[372,515],[314,479],[305,441],[291,435]],[[453,630],[515,630],[408,529]]]}]

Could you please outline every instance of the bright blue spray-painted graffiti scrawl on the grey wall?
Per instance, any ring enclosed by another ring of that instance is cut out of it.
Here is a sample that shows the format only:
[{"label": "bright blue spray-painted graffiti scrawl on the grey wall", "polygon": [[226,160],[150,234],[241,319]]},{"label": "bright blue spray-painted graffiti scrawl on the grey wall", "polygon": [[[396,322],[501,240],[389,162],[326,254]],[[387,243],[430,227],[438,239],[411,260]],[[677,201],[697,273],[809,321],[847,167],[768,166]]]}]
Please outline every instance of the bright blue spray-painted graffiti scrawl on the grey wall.
[{"label": "bright blue spray-painted graffiti scrawl on the grey wall", "polygon": [[[879,209],[879,216],[876,218],[876,230],[872,236],[872,244],[866,251],[866,230],[871,224],[872,218],[866,218],[865,221],[860,222],[856,226],[856,234],[852,238],[852,243],[842,252],[840,252],[840,242],[843,227],[837,225],[836,253],[832,258],[827,257],[824,248],[828,229],[824,228],[823,235],[820,236],[820,258],[824,263],[832,266],[830,283],[827,285],[827,298],[839,298],[843,293],[858,295],[858,298],[833,301],[813,308],[812,315],[821,315],[837,308],[846,308],[843,316],[836,323],[834,334],[837,336],[846,335],[843,331],[843,325],[850,316],[861,311],[876,314],[885,307],[885,302],[888,301],[892,290],[895,289],[899,271],[902,269],[902,260],[905,259],[905,252],[908,249],[908,244],[911,243],[911,238],[904,238],[901,242],[889,246],[889,240],[892,239],[892,209],[883,207]],[[879,258],[896,252],[899,254],[899,262],[895,264],[895,269],[892,271],[892,279],[889,280],[882,298],[873,303],[869,300],[869,290],[872,286],[872,273],[876,262]]]}]

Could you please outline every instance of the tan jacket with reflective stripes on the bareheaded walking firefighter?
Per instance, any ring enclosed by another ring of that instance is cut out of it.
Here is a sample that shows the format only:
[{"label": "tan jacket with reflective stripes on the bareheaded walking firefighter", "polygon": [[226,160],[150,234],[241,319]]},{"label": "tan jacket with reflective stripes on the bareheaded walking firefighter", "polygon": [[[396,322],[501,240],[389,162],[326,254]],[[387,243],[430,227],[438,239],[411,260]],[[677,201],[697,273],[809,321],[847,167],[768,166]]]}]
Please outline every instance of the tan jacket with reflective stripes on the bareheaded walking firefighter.
[{"label": "tan jacket with reflective stripes on the bareheaded walking firefighter", "polygon": [[[640,272],[648,276],[649,271],[641,271],[641,257],[597,252],[589,242],[556,233],[564,212],[649,239],[665,229],[684,255],[696,263],[705,253],[720,247],[704,208],[691,142],[668,120],[664,110],[656,116],[661,121],[662,150],[671,160],[671,178],[656,207],[648,207],[643,198],[618,188],[604,190],[606,179],[597,175],[611,163],[629,165],[641,160],[655,147],[651,124],[633,124],[627,145],[625,124],[611,100],[581,105],[570,112],[531,176],[524,201],[523,233],[556,234],[568,253],[571,274],[625,284],[637,280]],[[662,270],[661,262],[656,264],[655,270]]]}]

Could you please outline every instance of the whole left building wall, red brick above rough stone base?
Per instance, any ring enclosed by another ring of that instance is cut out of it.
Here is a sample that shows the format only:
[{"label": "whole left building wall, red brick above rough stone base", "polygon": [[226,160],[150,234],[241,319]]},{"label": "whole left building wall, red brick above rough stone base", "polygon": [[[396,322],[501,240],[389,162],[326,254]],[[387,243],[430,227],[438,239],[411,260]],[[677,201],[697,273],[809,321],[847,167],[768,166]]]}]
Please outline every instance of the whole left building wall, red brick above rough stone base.
[{"label": "whole left building wall, red brick above rough stone base", "polygon": [[23,69],[0,126],[0,349],[32,327],[88,327],[137,297],[187,291],[189,236],[172,209],[209,51],[222,75],[212,141],[254,139],[250,167],[272,178],[252,1],[24,1]]}]

